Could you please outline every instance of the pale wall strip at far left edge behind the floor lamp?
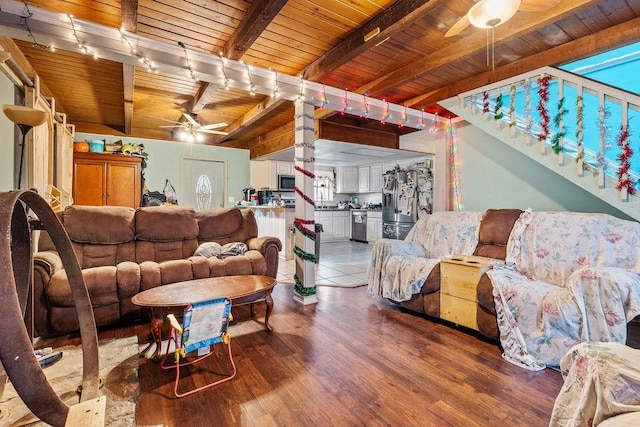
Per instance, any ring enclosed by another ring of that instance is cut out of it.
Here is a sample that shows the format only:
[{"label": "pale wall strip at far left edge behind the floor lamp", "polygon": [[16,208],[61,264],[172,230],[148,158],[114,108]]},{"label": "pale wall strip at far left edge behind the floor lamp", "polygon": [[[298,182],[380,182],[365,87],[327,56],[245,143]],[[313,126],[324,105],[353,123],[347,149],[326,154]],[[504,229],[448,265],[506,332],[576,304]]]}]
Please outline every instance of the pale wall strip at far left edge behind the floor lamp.
[{"label": "pale wall strip at far left edge behind the floor lamp", "polygon": [[[15,103],[15,86],[0,73],[0,104]],[[0,113],[0,191],[13,190],[13,158],[15,144],[15,125],[7,116]]]}]

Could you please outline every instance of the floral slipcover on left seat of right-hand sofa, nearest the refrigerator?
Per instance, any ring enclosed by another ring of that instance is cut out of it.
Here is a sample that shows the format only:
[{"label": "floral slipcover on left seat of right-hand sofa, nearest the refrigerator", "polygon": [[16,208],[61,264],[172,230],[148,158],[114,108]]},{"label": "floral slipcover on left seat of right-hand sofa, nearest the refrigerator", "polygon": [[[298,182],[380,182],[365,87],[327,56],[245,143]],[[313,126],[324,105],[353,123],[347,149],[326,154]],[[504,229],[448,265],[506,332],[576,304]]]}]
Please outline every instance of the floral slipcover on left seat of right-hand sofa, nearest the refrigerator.
[{"label": "floral slipcover on left seat of right-hand sofa, nearest the refrigerator", "polygon": [[483,214],[435,212],[420,218],[405,240],[377,240],[367,270],[369,294],[397,302],[410,300],[440,260],[473,254]]}]

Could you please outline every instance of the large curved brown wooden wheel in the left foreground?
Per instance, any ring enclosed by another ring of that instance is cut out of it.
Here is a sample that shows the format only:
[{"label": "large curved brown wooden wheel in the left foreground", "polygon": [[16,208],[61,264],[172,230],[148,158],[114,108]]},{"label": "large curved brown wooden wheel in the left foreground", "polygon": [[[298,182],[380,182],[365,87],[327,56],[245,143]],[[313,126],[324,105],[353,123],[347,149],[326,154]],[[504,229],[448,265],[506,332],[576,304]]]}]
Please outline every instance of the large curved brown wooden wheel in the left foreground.
[{"label": "large curved brown wooden wheel in the left foreground", "polygon": [[30,190],[0,193],[0,361],[29,410],[48,424],[64,426],[69,408],[42,372],[24,323],[33,262],[29,209],[51,236],[71,286],[83,350],[80,401],[98,397],[98,335],[89,293],[64,227],[46,201]]}]

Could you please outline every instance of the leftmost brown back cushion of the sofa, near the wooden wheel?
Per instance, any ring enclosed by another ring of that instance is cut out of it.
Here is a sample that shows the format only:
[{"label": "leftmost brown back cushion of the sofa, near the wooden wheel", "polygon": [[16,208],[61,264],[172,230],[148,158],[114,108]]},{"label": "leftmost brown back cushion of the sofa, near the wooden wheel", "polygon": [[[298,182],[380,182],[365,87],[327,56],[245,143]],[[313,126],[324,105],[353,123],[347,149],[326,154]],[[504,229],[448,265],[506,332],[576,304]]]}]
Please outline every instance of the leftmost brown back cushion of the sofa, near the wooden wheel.
[{"label": "leftmost brown back cushion of the sofa, near the wooden wheel", "polygon": [[63,221],[69,239],[76,243],[117,245],[135,238],[132,208],[72,205],[65,209]]}]

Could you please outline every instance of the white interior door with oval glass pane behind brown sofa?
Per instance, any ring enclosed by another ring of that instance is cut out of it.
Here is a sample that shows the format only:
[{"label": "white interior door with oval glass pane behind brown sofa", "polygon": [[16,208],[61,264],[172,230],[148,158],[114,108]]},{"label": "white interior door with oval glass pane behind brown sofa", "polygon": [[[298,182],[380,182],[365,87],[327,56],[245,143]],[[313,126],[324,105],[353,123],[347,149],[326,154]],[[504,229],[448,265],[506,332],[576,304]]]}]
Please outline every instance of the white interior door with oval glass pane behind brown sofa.
[{"label": "white interior door with oval glass pane behind brown sofa", "polygon": [[182,206],[196,211],[224,207],[227,199],[227,162],[182,159]]}]

